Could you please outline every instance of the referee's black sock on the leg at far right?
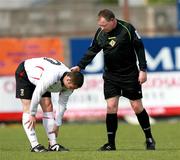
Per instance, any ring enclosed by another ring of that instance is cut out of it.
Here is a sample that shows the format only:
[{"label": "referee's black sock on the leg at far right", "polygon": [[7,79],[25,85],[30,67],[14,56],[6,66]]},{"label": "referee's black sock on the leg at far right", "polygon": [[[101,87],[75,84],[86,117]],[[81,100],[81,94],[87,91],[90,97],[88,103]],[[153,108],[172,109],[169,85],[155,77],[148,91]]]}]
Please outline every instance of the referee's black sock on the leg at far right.
[{"label": "referee's black sock on the leg at far right", "polygon": [[136,114],[136,116],[141,128],[144,131],[145,137],[152,138],[149,115],[147,114],[146,110],[144,109],[141,113]]}]

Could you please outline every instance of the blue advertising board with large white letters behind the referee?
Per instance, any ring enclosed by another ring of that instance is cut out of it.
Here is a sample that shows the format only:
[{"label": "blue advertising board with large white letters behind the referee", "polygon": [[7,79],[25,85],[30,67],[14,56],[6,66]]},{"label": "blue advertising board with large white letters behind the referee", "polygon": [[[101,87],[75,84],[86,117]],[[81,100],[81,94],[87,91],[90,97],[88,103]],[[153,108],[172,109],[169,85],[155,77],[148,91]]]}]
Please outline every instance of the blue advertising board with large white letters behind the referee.
[{"label": "blue advertising board with large white letters behind the referee", "polygon": [[[180,71],[180,37],[143,37],[142,38],[148,72]],[[90,38],[76,38],[70,40],[71,65],[75,66],[86,53],[91,44]],[[99,53],[84,73],[103,72],[103,53]]]}]

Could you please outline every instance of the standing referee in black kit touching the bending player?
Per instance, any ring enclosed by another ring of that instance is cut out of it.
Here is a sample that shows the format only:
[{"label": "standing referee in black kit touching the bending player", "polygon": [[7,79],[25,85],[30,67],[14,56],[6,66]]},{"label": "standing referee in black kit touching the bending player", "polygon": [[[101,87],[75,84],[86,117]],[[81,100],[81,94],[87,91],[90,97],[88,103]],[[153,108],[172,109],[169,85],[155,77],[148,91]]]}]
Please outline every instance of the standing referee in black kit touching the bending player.
[{"label": "standing referee in black kit touching the bending player", "polygon": [[146,149],[155,150],[149,116],[143,108],[141,100],[141,85],[147,80],[147,64],[141,37],[131,24],[116,19],[114,13],[108,9],[101,10],[98,13],[98,25],[99,28],[87,53],[71,70],[85,69],[97,53],[103,50],[108,142],[99,150],[116,150],[115,137],[118,128],[117,111],[120,96],[126,97],[130,101],[145,134]]}]

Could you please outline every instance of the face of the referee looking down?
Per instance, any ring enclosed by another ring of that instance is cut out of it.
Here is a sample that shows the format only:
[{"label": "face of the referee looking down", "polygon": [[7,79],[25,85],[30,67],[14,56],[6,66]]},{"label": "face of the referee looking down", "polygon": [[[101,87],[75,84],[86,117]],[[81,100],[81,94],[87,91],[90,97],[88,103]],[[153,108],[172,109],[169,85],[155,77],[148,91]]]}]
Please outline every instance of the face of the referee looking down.
[{"label": "face of the referee looking down", "polygon": [[104,17],[99,17],[98,18],[98,25],[99,25],[99,27],[101,27],[101,29],[104,32],[110,32],[114,29],[115,20],[112,19],[110,21],[107,21]]}]

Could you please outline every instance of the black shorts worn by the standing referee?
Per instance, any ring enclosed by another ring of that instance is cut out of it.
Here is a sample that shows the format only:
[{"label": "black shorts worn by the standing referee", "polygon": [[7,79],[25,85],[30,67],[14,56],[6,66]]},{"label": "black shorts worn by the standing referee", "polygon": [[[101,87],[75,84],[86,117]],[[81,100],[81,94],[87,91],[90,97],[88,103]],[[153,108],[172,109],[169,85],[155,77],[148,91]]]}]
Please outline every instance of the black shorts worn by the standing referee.
[{"label": "black shorts worn by the standing referee", "polygon": [[104,79],[104,97],[105,99],[115,96],[123,96],[130,100],[142,98],[142,89],[138,81],[134,82],[112,82]]}]

